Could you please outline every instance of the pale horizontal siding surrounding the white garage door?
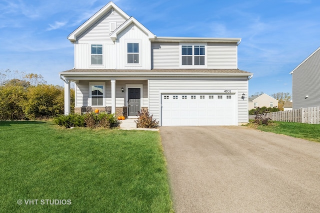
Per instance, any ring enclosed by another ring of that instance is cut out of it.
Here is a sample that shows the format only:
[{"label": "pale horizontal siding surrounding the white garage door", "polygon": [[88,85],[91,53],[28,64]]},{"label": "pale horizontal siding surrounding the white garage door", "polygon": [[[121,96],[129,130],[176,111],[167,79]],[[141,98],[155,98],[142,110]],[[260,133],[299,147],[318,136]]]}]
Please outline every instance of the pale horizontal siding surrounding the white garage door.
[{"label": "pale horizontal siding surrounding the white garage door", "polygon": [[[161,90],[231,90],[237,92],[238,123],[248,122],[248,80],[247,77],[223,78],[215,77],[210,79],[150,79],[149,80],[149,113],[153,118],[160,120],[160,91]],[[241,99],[245,94],[244,100]],[[187,116],[187,115],[186,115]]]}]

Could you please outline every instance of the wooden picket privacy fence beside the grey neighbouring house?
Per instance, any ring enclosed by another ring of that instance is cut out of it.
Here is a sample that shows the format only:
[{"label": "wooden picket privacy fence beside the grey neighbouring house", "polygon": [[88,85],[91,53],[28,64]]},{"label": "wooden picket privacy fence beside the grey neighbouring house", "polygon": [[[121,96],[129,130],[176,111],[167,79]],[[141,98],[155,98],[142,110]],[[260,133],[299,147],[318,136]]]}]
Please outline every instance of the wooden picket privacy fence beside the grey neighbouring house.
[{"label": "wooden picket privacy fence beside the grey neighbouring house", "polygon": [[[272,121],[297,122],[307,124],[320,124],[320,107],[308,107],[279,112],[266,113]],[[249,115],[254,119],[254,115]]]}]

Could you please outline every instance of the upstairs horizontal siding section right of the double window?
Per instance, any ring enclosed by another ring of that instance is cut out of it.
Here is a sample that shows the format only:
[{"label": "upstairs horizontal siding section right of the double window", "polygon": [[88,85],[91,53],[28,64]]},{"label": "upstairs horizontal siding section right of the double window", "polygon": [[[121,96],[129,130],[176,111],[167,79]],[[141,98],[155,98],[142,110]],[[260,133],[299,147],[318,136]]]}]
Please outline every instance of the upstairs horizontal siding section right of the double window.
[{"label": "upstairs horizontal siding section right of the double window", "polygon": [[236,44],[208,43],[207,46],[208,69],[237,69]]}]

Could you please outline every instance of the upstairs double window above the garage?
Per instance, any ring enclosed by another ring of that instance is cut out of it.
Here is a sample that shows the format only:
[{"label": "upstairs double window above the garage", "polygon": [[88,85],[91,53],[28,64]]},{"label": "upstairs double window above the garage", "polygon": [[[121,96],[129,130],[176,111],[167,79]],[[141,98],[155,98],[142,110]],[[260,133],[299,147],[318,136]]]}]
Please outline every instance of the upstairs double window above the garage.
[{"label": "upstairs double window above the garage", "polygon": [[205,46],[181,45],[181,65],[205,65]]}]

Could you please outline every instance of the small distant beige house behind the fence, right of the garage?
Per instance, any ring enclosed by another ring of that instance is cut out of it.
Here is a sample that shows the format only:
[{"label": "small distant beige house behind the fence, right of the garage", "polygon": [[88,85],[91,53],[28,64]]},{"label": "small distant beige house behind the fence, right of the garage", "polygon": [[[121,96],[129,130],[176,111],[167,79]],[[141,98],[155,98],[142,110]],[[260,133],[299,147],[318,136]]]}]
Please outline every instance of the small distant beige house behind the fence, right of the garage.
[{"label": "small distant beige house behind the fence, right of the garage", "polygon": [[277,107],[278,106],[278,100],[275,98],[272,98],[271,96],[263,93],[261,95],[249,97],[248,101],[248,109],[254,109],[257,107]]}]

